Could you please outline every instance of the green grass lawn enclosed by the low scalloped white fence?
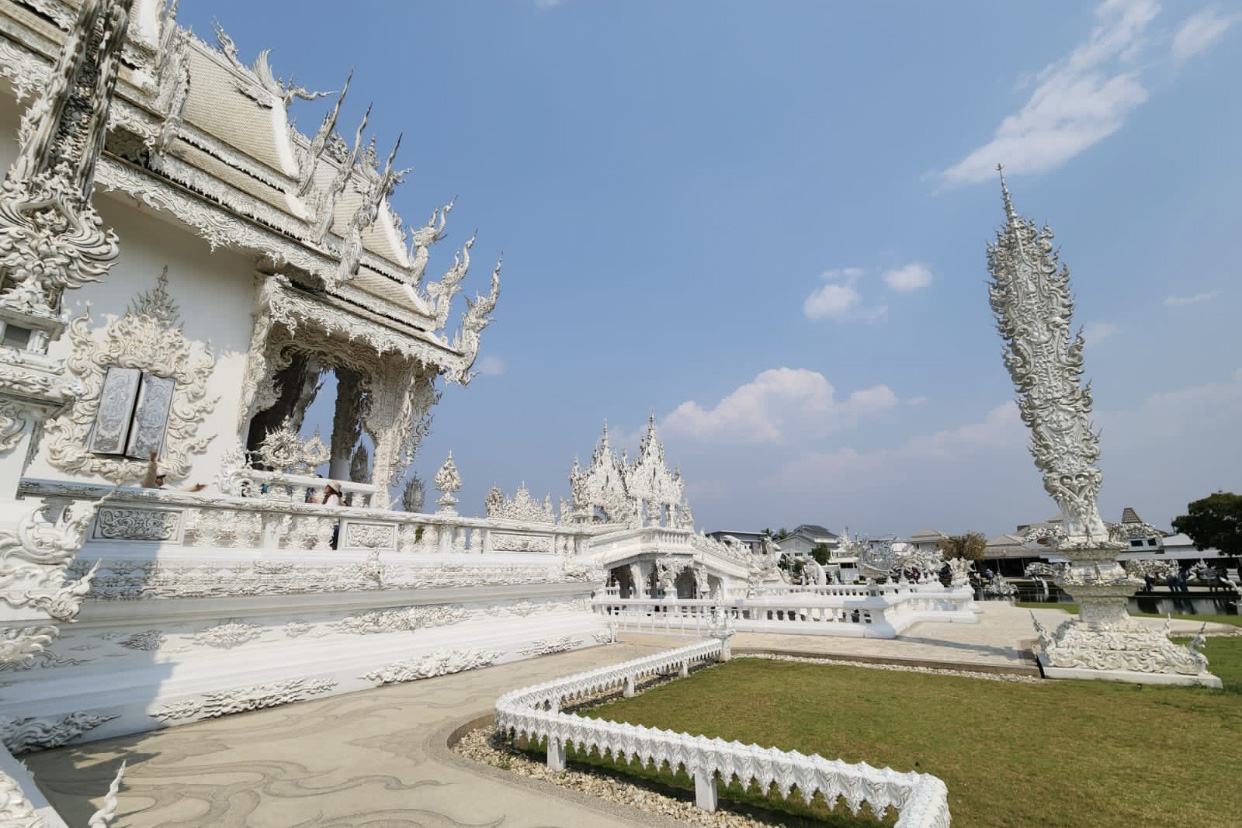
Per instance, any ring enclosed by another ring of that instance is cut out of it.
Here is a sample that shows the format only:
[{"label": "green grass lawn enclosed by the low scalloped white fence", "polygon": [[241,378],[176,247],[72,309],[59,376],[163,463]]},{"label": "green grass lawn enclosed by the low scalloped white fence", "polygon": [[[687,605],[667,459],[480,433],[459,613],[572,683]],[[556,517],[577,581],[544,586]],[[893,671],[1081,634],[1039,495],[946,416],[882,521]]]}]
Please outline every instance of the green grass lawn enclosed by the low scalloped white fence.
[{"label": "green grass lawn enclosed by the low scalloped white fence", "polygon": [[[949,786],[955,828],[1235,828],[1242,638],[1211,638],[1205,653],[1226,690],[1017,684],[746,658],[585,715],[934,773]],[[691,787],[683,775],[658,780]],[[735,793],[722,791],[722,799]],[[807,812],[796,796],[768,803],[814,814],[811,824],[868,824],[822,803]]]}]

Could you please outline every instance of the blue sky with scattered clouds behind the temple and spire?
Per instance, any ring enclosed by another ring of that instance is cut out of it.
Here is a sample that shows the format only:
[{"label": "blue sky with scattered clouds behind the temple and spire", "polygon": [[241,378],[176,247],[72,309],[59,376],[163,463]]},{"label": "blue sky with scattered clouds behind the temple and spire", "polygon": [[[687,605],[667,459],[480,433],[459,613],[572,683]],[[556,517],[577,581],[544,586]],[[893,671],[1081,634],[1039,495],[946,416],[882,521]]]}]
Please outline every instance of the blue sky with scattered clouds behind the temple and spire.
[{"label": "blue sky with scattered clouds behind the temple and spire", "polygon": [[[404,134],[407,223],[457,196],[496,322],[415,468],[461,510],[568,497],[653,412],[699,528],[989,535],[1056,511],[987,305],[995,165],[1071,268],[1100,508],[1242,490],[1242,9],[183,0]],[[328,102],[298,102],[303,132]],[[458,299],[453,318],[463,303]],[[455,322],[451,324],[456,324]],[[433,493],[428,497],[435,497]]]}]

